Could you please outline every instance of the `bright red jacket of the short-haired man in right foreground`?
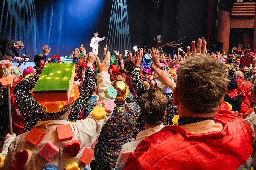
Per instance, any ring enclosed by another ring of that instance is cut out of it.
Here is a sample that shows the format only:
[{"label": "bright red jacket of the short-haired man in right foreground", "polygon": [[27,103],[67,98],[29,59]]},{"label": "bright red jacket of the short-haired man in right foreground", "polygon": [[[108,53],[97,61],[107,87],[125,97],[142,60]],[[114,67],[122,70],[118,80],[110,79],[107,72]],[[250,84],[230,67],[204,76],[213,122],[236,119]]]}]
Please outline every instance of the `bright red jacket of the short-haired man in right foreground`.
[{"label": "bright red jacket of the short-haired man in right foreground", "polygon": [[222,131],[191,134],[173,125],[147,137],[130,154],[127,169],[236,169],[253,148],[247,123],[230,111],[219,109],[214,118]]}]

